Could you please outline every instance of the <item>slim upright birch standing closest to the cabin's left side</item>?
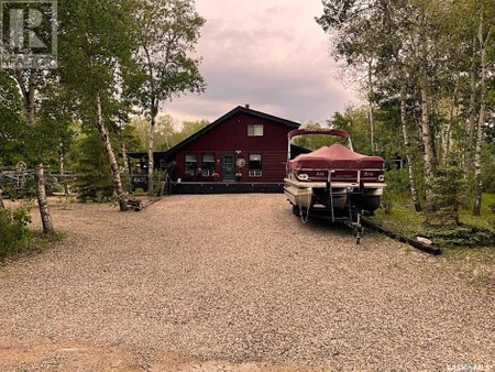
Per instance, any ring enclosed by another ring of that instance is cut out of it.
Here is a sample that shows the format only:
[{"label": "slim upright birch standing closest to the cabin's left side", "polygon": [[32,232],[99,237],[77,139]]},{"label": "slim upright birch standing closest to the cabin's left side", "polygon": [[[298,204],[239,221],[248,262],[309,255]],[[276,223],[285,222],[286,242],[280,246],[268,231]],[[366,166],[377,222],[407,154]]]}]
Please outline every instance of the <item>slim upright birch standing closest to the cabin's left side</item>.
[{"label": "slim upright birch standing closest to the cabin's left side", "polygon": [[147,139],[147,179],[153,189],[153,149],[160,106],[184,92],[201,92],[205,81],[199,59],[190,56],[205,20],[194,0],[141,0],[134,13],[138,26],[134,54],[136,69],[129,94],[150,120]]}]

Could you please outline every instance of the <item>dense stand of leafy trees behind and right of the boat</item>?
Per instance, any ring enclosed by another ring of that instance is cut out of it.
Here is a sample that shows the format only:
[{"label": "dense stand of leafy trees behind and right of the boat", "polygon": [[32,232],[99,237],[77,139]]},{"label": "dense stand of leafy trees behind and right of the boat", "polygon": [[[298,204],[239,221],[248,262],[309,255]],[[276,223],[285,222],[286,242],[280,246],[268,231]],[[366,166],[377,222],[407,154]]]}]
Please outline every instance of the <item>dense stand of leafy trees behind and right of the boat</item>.
[{"label": "dense stand of leafy trees behind and right of the boat", "polygon": [[[491,182],[486,172],[492,155],[482,147],[491,142],[495,116],[494,2],[323,0],[323,8],[317,22],[329,33],[334,58],[361,72],[358,84],[377,107],[378,152],[386,156],[398,153],[414,162],[409,173],[416,169],[425,177],[419,182],[424,185],[420,194],[422,199],[427,196],[432,210],[438,209],[433,185],[452,160],[458,160],[455,166],[462,169],[460,177],[471,182],[466,189],[473,189],[474,168],[482,169],[485,180],[476,176],[476,185],[492,189],[493,185],[486,184]],[[367,73],[370,80],[364,78]],[[352,131],[351,118],[356,114],[363,123],[365,112],[351,110],[336,114],[333,125]],[[369,131],[361,124],[352,134],[354,142],[371,153],[373,149],[366,149],[363,138]],[[480,138],[484,144],[476,140]],[[484,161],[476,161],[480,157]],[[481,198],[481,188],[476,195]]]}]

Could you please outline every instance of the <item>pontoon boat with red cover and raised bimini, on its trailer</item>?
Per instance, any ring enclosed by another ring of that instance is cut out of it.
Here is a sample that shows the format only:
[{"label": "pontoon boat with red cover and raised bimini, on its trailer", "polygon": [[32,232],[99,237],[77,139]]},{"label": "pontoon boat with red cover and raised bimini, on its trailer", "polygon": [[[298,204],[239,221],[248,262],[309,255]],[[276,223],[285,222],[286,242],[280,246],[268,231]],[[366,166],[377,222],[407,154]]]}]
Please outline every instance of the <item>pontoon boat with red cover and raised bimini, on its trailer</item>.
[{"label": "pontoon boat with red cover and raised bimini, on its trailer", "polygon": [[[329,134],[346,140],[292,158],[292,140],[302,134]],[[288,133],[287,177],[284,192],[293,214],[307,223],[309,215],[342,222],[353,229],[356,244],[364,232],[363,210],[378,208],[383,188],[383,162],[353,151],[348,132],[340,129],[299,129]]]}]

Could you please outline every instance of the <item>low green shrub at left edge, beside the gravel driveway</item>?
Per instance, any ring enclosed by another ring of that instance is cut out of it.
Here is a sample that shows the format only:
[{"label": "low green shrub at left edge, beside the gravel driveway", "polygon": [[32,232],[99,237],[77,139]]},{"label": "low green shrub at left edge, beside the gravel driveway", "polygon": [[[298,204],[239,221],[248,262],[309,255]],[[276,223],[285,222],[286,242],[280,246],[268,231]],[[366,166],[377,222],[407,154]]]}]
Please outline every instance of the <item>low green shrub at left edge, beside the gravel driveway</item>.
[{"label": "low green shrub at left edge, beside the gravel driveway", "polygon": [[28,209],[0,209],[0,258],[19,252],[31,242]]}]

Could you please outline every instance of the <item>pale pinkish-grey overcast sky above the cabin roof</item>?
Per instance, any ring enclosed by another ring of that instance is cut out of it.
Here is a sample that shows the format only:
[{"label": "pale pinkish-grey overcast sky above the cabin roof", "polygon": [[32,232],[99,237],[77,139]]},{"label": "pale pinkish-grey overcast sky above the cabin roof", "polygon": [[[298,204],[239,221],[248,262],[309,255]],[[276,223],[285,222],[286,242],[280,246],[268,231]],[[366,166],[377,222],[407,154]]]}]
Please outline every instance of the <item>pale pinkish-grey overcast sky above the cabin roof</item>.
[{"label": "pale pinkish-grey overcast sky above the cabin roof", "polygon": [[201,17],[197,53],[207,90],[166,102],[177,123],[213,121],[234,107],[298,122],[324,122],[356,102],[329,56],[315,17],[321,0],[196,0]]}]

